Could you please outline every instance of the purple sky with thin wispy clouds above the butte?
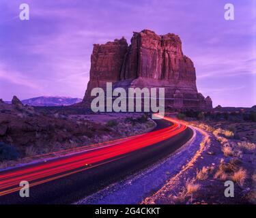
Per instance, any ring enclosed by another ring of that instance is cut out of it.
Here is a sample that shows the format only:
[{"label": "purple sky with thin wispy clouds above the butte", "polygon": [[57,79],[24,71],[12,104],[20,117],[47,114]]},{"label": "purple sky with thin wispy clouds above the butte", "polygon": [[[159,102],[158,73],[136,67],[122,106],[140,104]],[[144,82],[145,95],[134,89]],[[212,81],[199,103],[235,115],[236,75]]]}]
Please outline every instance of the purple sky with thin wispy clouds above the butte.
[{"label": "purple sky with thin wispy clouds above the butte", "polygon": [[[18,18],[28,3],[30,20]],[[225,3],[235,20],[224,19]],[[256,104],[256,0],[1,0],[0,98],[83,97],[93,44],[151,29],[180,35],[214,106]]]}]

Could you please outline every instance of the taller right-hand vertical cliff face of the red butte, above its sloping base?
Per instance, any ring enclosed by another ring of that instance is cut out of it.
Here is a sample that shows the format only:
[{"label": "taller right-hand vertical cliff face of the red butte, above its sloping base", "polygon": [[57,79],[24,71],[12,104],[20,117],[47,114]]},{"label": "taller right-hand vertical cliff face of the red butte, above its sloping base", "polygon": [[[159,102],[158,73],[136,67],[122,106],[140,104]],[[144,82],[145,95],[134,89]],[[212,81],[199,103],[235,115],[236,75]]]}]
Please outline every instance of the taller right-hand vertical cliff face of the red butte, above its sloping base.
[{"label": "taller right-hand vertical cliff face of the red butte, above its sloping base", "polygon": [[121,79],[195,80],[193,62],[182,53],[177,35],[156,35],[144,30],[134,33],[121,71]]}]

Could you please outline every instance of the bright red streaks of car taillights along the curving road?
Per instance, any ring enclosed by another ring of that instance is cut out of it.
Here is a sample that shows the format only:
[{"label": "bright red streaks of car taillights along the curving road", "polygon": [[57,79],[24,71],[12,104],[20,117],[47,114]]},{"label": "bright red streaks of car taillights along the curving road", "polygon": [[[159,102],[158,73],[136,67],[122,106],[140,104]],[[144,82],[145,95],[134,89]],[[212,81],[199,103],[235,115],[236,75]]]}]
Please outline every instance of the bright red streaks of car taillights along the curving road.
[{"label": "bright red streaks of car taillights along the curving road", "polygon": [[163,119],[171,121],[173,125],[146,134],[105,142],[104,146],[92,151],[81,151],[80,148],[77,151],[81,152],[72,153],[72,155],[66,157],[37,163],[34,166],[28,165],[23,168],[1,172],[0,196],[20,190],[20,181],[28,181],[29,186],[32,187],[70,174],[96,168],[96,166],[124,158],[125,155],[128,155],[132,151],[137,151],[157,142],[167,140],[180,134],[187,128],[183,123],[177,123],[177,121],[169,117],[164,117]]}]

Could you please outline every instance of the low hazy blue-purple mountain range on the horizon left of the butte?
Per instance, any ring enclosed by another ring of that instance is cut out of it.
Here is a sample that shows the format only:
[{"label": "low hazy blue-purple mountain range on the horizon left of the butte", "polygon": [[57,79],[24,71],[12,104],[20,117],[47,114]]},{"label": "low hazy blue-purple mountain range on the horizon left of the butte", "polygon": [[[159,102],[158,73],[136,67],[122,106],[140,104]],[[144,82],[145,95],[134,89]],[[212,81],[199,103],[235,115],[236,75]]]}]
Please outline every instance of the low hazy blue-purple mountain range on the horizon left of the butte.
[{"label": "low hazy blue-purple mountain range on the horizon left of the butte", "polygon": [[[82,102],[82,99],[72,98],[72,97],[59,97],[59,96],[40,96],[40,97],[25,99],[21,102],[29,106],[69,106],[72,104],[77,104],[79,102]],[[11,102],[6,102],[6,103],[11,103]]]}]

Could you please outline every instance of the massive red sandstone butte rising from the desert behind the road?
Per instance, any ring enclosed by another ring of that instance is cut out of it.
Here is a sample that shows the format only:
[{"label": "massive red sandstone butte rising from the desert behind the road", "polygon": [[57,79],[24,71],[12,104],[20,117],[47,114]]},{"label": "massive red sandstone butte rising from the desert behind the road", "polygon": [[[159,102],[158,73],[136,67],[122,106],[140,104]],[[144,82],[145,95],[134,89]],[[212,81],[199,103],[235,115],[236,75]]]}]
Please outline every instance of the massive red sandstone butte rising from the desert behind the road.
[{"label": "massive red sandstone butte rising from the desert behind the road", "polygon": [[131,44],[122,37],[106,44],[94,44],[90,78],[83,103],[91,101],[91,89],[165,87],[168,108],[212,109],[212,99],[197,91],[193,61],[183,55],[178,35],[134,32]]}]

